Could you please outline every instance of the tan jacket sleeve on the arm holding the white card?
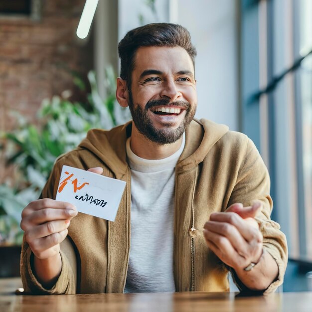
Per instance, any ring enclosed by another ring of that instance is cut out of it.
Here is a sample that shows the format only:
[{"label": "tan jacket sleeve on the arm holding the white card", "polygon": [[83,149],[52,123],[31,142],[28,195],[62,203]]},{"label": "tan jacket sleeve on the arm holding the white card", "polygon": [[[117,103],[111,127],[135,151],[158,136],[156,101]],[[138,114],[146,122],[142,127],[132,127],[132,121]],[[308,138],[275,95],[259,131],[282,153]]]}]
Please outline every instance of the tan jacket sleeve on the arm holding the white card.
[{"label": "tan jacket sleeve on the arm holding the white card", "polygon": [[[50,177],[46,182],[40,198],[55,198],[62,164],[57,161],[52,169]],[[69,240],[66,238],[60,244],[60,255],[62,259],[62,269],[56,284],[51,289],[45,289],[36,279],[32,270],[33,254],[29,245],[24,241],[20,256],[20,275],[24,292],[32,295],[58,295],[76,293],[76,257]]]}]

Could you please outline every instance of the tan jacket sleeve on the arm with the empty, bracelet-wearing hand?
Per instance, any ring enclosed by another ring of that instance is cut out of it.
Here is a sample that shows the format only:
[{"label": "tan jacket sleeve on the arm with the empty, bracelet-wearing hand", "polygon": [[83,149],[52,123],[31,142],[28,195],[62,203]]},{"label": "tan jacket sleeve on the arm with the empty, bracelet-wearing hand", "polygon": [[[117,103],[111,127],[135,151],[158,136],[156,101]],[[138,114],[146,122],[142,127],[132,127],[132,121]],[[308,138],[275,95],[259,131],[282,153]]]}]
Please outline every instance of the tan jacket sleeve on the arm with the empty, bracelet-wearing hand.
[{"label": "tan jacket sleeve on the arm with the empty, bracelet-wearing hand", "polygon": [[[279,268],[277,280],[264,292],[264,294],[268,294],[274,292],[284,281],[288,248],[286,236],[280,230],[280,225],[270,218],[273,202],[270,196],[268,169],[254,143],[247,139],[246,154],[242,159],[229,206],[236,202],[241,202],[244,206],[250,206],[254,200],[260,200],[263,203],[262,211],[255,218],[263,235],[263,247],[274,258]],[[237,280],[236,274],[232,275],[238,287],[243,290],[244,285]],[[245,289],[247,290],[246,287]]]}]

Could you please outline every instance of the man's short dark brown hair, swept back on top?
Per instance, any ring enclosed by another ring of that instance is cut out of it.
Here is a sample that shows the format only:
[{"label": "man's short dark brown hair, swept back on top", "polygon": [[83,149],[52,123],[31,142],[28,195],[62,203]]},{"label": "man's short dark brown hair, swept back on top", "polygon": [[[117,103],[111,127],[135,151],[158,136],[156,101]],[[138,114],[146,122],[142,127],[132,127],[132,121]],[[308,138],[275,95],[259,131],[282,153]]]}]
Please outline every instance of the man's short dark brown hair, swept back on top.
[{"label": "man's short dark brown hair, swept back on top", "polygon": [[118,44],[121,60],[120,77],[127,80],[131,89],[131,75],[135,66],[136,51],[142,46],[180,46],[191,57],[195,66],[196,49],[186,28],[171,23],[147,24],[127,32]]}]

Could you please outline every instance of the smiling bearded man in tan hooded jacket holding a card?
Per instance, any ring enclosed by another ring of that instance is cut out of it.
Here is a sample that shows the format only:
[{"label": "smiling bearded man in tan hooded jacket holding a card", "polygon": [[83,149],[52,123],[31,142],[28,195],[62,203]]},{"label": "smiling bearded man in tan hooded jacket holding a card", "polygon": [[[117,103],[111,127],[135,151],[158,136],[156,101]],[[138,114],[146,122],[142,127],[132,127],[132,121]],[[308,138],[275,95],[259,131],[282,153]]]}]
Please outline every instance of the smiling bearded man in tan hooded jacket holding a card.
[{"label": "smiling bearded man in tan hooded jacket holding a card", "polygon": [[[193,120],[193,47],[180,25],[149,24],[119,43],[116,97],[133,122],[92,130],[56,161],[22,213],[21,276],[34,294],[272,292],[287,245],[270,220],[268,171],[253,143]],[[127,182],[115,222],[55,201],[62,165]]]}]

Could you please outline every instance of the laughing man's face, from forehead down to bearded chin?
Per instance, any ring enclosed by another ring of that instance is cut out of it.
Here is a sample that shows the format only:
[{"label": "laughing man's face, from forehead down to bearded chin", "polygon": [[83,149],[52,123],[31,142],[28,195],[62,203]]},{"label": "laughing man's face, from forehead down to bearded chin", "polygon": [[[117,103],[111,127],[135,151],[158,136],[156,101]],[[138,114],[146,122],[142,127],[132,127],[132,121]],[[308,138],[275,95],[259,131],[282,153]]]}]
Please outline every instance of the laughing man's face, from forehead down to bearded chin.
[{"label": "laughing man's face, from forehead down to bearded chin", "polygon": [[177,141],[197,107],[194,66],[181,47],[141,47],[132,73],[129,107],[135,127],[159,144]]}]

